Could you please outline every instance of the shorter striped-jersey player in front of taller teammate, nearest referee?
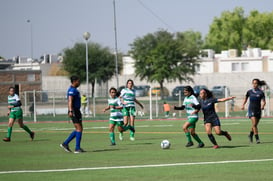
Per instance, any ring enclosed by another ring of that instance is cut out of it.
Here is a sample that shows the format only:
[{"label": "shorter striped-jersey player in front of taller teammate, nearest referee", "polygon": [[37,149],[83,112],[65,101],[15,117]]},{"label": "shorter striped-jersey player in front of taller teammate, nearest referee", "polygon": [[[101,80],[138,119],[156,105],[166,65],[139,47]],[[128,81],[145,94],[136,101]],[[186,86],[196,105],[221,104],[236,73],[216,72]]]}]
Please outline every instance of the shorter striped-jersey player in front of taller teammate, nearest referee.
[{"label": "shorter striped-jersey player in front of taller teammate, nearest referee", "polygon": [[116,145],[115,140],[115,126],[118,126],[118,130],[120,133],[123,133],[124,131],[130,129],[132,132],[134,132],[134,128],[130,125],[125,126],[123,123],[123,115],[122,115],[122,104],[120,102],[120,99],[117,97],[117,89],[112,87],[109,90],[110,98],[108,99],[108,106],[103,109],[103,112],[110,109],[110,119],[109,119],[109,137],[111,141],[111,145]]}]

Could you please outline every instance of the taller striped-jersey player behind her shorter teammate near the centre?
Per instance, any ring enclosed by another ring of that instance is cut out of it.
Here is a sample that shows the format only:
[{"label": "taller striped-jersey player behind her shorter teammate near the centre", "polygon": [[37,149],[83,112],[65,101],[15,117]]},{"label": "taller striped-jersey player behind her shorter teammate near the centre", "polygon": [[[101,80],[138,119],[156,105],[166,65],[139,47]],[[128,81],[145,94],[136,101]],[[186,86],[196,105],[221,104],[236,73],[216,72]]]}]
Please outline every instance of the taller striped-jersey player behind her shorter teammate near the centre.
[{"label": "taller striped-jersey player behind her shorter teammate near the centre", "polygon": [[[122,114],[123,121],[125,125],[131,125],[134,128],[135,125],[135,117],[136,117],[136,108],[135,103],[137,103],[142,109],[143,105],[136,99],[135,90],[133,89],[134,82],[129,79],[126,83],[126,88],[121,90],[120,99],[123,106]],[[129,122],[130,121],[130,122]],[[123,134],[120,133],[120,139],[123,139]],[[130,131],[130,140],[135,140],[135,132]]]}]

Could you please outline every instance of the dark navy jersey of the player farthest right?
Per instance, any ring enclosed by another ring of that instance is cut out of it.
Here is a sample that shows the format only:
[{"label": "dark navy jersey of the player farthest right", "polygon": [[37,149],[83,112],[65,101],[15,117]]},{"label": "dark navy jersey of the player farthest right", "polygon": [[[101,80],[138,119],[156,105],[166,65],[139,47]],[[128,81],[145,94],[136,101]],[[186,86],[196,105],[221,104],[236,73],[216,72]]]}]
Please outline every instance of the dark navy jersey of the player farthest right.
[{"label": "dark navy jersey of the player farthest right", "polygon": [[261,100],[265,99],[264,92],[261,89],[250,89],[246,93],[246,98],[249,98],[248,109],[251,111],[261,110]]}]

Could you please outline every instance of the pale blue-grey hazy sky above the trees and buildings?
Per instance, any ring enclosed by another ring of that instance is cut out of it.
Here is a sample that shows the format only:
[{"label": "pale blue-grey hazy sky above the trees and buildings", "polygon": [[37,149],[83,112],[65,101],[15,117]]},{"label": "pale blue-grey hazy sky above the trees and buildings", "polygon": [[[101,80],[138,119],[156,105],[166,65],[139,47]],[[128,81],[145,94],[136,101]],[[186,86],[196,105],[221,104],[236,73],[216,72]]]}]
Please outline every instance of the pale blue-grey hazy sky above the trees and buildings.
[{"label": "pale blue-grey hazy sky above the trees and buildings", "polygon": [[[115,49],[114,0],[0,0],[0,56],[39,58],[88,41]],[[115,0],[117,48],[126,54],[138,37],[164,29],[198,31],[215,17],[242,7],[272,12],[272,0]],[[31,46],[32,45],[32,46]],[[31,48],[32,47],[32,48]]]}]

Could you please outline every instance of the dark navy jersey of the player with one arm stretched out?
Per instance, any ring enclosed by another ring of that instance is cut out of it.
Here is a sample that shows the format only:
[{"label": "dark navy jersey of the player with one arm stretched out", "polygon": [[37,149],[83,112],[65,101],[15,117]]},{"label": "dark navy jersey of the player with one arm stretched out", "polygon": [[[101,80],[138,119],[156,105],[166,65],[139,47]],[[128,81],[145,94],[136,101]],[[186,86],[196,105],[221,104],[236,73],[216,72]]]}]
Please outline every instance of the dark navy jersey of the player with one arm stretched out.
[{"label": "dark navy jersey of the player with one arm stretched out", "polygon": [[218,100],[216,98],[209,98],[206,100],[200,100],[201,108],[204,114],[204,121],[213,121],[219,119],[215,112],[215,103]]}]

